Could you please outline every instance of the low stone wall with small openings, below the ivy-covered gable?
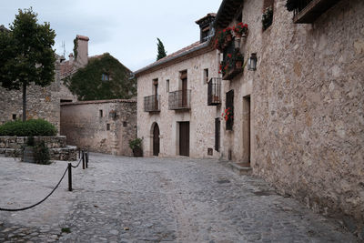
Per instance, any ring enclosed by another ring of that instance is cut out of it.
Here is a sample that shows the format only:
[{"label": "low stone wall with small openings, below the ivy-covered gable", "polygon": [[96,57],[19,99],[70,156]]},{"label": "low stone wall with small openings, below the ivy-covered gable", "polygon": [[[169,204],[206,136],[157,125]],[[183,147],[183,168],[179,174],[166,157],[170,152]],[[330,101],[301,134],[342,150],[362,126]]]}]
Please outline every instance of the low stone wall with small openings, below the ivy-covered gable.
[{"label": "low stone wall with small openings, below the ivy-covered gable", "polygon": [[61,104],[61,135],[90,151],[131,156],[136,138],[136,101],[100,100]]}]

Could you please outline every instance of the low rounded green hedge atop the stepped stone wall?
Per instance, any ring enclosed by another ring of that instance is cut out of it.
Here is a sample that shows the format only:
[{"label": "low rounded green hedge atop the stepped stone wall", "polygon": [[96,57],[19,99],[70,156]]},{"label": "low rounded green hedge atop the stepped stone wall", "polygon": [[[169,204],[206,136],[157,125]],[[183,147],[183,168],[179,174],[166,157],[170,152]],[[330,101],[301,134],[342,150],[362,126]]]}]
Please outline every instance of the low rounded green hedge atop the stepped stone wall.
[{"label": "low rounded green hedge atop the stepped stone wall", "polygon": [[56,133],[56,127],[43,119],[30,119],[25,122],[16,120],[0,126],[0,136],[56,136]]}]

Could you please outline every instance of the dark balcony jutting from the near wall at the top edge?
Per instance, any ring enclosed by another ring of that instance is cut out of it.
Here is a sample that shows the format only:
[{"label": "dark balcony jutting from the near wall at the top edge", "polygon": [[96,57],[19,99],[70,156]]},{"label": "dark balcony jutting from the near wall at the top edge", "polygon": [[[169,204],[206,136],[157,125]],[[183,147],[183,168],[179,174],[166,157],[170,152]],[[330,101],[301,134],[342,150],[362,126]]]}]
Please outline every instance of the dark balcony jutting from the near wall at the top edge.
[{"label": "dark balcony jutting from the near wall at the top edge", "polygon": [[293,11],[293,23],[311,24],[319,15],[337,4],[339,0],[288,0],[288,11]]}]

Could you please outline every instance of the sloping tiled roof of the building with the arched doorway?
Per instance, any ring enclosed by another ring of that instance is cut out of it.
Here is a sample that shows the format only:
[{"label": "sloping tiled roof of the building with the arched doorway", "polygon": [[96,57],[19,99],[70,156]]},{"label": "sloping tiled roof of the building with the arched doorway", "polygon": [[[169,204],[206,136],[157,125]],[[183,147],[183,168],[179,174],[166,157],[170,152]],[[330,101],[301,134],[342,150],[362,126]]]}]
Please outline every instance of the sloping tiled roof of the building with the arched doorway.
[{"label": "sloping tiled roof of the building with the arched doorway", "polygon": [[148,65],[148,66],[145,66],[145,67],[143,67],[143,68],[141,68],[141,69],[139,69],[139,70],[137,70],[136,72],[135,72],[135,74],[136,74],[136,76],[137,75],[139,75],[140,73],[142,73],[142,72],[144,72],[144,71],[147,71],[148,69],[150,69],[150,68],[152,68],[152,67],[155,67],[155,66],[161,66],[162,64],[166,64],[167,62],[169,62],[169,61],[172,61],[172,60],[174,60],[174,59],[176,59],[177,57],[180,57],[180,56],[186,56],[187,54],[189,54],[189,53],[191,53],[191,52],[194,52],[194,51],[197,51],[197,50],[199,50],[199,49],[201,49],[201,48],[203,48],[203,47],[206,47],[206,46],[208,46],[209,45],[209,41],[207,41],[207,42],[199,42],[199,41],[197,41],[197,42],[195,42],[195,43],[193,43],[193,44],[191,44],[191,45],[189,45],[189,46],[186,46],[186,47],[184,47],[184,48],[182,48],[182,49],[180,49],[180,50],[178,50],[177,52],[175,52],[175,53],[172,53],[172,54],[170,54],[170,55],[168,55],[168,56],[165,56],[165,57],[163,57],[162,59],[159,59],[159,60],[157,60],[157,62],[154,62],[154,63],[152,63],[152,64],[150,64],[150,65]]}]

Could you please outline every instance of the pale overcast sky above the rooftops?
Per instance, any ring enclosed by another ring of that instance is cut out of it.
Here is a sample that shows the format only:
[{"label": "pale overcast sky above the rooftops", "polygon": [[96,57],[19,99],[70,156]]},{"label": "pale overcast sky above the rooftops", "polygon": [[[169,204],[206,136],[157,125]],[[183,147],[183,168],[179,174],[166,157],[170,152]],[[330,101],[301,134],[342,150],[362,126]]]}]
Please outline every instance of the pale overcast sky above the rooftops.
[{"label": "pale overcast sky above the rooftops", "polygon": [[221,0],[11,0],[0,5],[0,25],[8,27],[19,8],[33,7],[39,23],[56,31],[56,53],[66,57],[76,35],[86,35],[89,56],[105,52],[132,71],[157,57],[157,37],[167,54],[199,39],[195,21],[217,13]]}]

